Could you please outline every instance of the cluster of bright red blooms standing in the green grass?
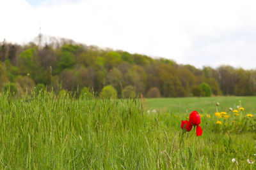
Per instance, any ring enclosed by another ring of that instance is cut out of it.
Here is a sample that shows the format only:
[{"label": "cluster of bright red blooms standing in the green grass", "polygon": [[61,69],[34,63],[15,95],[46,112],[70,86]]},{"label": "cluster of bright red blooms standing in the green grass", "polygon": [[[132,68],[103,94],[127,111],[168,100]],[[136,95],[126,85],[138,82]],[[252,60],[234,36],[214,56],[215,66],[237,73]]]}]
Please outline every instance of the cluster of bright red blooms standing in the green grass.
[{"label": "cluster of bright red blooms standing in the green grass", "polygon": [[189,115],[189,121],[181,121],[181,129],[184,128],[184,125],[186,125],[185,129],[186,131],[191,131],[193,126],[196,126],[196,136],[201,136],[203,133],[203,129],[200,127],[201,118],[200,115],[197,113],[197,111],[192,111]]}]

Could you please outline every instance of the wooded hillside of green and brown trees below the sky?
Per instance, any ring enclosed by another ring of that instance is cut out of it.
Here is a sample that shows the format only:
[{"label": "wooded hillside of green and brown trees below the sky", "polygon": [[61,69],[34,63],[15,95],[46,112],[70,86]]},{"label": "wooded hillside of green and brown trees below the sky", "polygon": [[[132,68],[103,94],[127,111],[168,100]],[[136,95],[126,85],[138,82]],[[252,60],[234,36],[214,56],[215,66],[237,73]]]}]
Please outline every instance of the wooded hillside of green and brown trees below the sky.
[{"label": "wooded hillside of green and brown trees below the sky", "polygon": [[112,97],[254,96],[256,70],[198,69],[174,60],[55,39],[44,45],[0,43],[0,88]]}]

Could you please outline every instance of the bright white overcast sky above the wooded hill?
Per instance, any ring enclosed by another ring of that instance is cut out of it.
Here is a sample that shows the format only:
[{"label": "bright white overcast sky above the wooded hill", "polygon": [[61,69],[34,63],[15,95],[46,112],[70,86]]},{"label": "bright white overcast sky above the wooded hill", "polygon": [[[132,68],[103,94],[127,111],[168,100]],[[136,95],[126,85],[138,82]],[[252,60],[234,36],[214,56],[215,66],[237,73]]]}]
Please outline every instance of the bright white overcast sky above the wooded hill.
[{"label": "bright white overcast sky above the wooded hill", "polygon": [[179,64],[256,69],[256,1],[0,0],[0,41],[42,34]]}]

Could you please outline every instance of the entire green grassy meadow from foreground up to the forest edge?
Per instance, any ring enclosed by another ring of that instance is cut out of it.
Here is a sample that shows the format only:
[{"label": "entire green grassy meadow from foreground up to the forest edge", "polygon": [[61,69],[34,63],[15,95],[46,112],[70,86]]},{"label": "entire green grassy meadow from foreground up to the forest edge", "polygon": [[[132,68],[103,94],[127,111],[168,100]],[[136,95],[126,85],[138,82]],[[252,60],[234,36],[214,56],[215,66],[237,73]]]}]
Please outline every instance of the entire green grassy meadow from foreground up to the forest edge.
[{"label": "entire green grassy meadow from foreground up to the forest edge", "polygon": [[[235,109],[239,100],[245,110],[236,116],[228,108]],[[2,94],[0,166],[255,169],[255,163],[248,163],[256,160],[255,101],[256,97],[74,99],[51,93],[12,99]],[[216,102],[230,117],[215,116]],[[200,137],[180,129],[192,110],[202,117]],[[246,117],[249,112],[254,117]]]}]

